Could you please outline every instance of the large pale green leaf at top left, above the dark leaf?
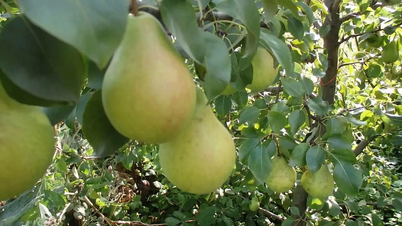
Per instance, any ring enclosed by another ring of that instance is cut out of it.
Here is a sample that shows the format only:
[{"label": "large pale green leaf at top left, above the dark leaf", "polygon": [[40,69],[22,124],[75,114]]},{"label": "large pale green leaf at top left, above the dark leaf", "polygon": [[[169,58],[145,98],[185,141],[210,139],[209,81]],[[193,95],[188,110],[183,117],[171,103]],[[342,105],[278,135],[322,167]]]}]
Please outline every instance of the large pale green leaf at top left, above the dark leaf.
[{"label": "large pale green leaf at top left, above the dark leaf", "polygon": [[129,4],[127,0],[97,4],[19,0],[18,6],[37,26],[105,68],[123,38]]}]

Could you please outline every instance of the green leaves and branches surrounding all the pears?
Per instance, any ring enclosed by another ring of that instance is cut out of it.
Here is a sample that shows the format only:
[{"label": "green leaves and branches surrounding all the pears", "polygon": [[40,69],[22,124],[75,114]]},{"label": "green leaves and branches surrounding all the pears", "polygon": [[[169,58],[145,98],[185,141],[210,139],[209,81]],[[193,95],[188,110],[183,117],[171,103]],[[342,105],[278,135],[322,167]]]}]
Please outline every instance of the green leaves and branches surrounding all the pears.
[{"label": "green leaves and branches surrounding all the pears", "polygon": [[[401,58],[382,57],[390,42],[401,54],[400,1],[137,2],[174,37],[236,142],[236,169],[206,195],[176,189],[158,145],[128,141],[103,111],[103,75],[129,2],[79,2],[0,0],[2,85],[43,107],[57,137],[37,186],[0,202],[0,225],[402,225]],[[250,93],[258,46],[279,74],[273,87]],[[228,84],[236,92],[219,95]],[[277,153],[297,170],[289,192],[264,184]],[[328,200],[300,185],[324,162],[336,183]]]}]

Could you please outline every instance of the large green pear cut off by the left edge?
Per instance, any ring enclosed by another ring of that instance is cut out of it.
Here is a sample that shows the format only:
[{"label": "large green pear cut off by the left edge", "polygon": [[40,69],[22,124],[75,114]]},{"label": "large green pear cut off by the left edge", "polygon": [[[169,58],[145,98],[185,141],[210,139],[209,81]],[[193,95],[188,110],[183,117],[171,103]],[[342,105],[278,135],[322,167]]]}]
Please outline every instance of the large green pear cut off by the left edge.
[{"label": "large green pear cut off by the left edge", "polygon": [[20,195],[43,177],[54,144],[43,111],[14,101],[0,84],[0,200]]}]

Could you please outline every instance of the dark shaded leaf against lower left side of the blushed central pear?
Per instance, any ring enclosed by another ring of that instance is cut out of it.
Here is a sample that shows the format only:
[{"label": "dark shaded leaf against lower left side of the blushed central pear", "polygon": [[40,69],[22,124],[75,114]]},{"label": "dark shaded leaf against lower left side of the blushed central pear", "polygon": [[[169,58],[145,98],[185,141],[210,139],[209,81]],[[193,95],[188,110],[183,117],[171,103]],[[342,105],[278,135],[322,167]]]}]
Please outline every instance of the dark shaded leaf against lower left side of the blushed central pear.
[{"label": "dark shaded leaf against lower left side of the blushed central pear", "polygon": [[111,125],[103,110],[100,90],[94,92],[86,104],[82,132],[96,156],[109,156],[129,140]]}]

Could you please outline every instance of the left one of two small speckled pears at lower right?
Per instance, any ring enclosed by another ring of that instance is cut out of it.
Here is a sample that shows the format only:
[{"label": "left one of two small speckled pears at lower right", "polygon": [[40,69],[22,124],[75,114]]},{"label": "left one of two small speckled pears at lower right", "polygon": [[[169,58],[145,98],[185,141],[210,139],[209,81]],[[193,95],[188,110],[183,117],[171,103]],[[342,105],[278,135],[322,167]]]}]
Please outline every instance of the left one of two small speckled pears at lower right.
[{"label": "left one of two small speckled pears at lower right", "polygon": [[275,155],[272,159],[271,173],[266,182],[267,186],[273,191],[289,191],[295,185],[296,170],[289,166],[283,156]]}]

